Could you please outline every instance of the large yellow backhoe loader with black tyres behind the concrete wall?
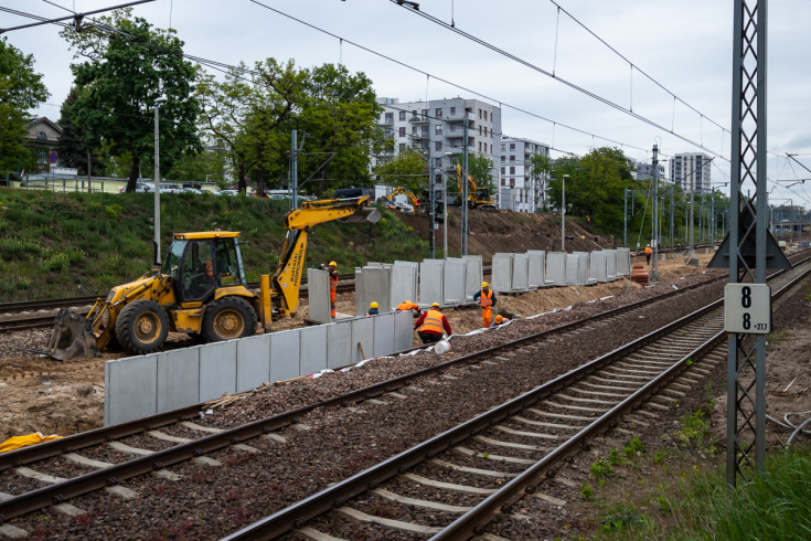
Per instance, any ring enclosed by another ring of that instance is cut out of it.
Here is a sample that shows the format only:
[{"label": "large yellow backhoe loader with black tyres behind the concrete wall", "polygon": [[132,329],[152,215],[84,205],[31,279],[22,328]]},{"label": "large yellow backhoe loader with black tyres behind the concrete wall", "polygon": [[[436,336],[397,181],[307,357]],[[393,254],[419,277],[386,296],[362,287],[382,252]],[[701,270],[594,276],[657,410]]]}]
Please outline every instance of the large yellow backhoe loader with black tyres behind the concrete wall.
[{"label": "large yellow backhoe loader with black tyres behind the concrete wall", "polygon": [[333,220],[376,223],[380,211],[369,203],[367,197],[306,201],[289,211],[276,273],[262,275],[258,291],[247,287],[238,232],[175,233],[162,267],[114,287],[86,317],[60,310],[44,353],[65,361],[120,346],[146,354],[160,350],[170,331],[215,342],[256,333],[257,320],[268,331],[298,309],[310,227]]}]

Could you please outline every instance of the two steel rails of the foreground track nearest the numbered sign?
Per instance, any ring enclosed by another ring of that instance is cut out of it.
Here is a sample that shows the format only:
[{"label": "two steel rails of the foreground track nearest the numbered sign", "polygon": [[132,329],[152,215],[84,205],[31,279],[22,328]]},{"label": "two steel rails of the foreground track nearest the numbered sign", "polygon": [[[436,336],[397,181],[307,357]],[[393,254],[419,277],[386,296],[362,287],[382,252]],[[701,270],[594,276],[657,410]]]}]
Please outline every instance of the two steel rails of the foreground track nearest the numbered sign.
[{"label": "two steel rails of the foreground track nearest the numbered sign", "polygon": [[[805,270],[801,276],[798,276],[792,283],[801,279],[802,276],[811,272],[811,268]],[[782,273],[776,273],[779,275]],[[786,288],[781,288],[779,293],[785,291]],[[777,295],[777,294],[775,294]],[[351,498],[359,496],[380,486],[387,479],[407,471],[409,468],[417,464],[430,459],[437,456],[439,453],[447,450],[448,448],[466,441],[467,438],[474,436],[488,427],[500,423],[501,421],[517,414],[519,412],[536,404],[541,400],[549,397],[554,393],[568,388],[569,385],[583,380],[584,378],[599,371],[600,369],[610,365],[616,360],[622,359],[626,356],[633,353],[642,347],[654,342],[659,338],[670,335],[672,331],[677,330],[684,325],[694,321],[707,314],[716,311],[723,306],[723,299],[715,300],[698,310],[695,310],[677,320],[668,323],[648,335],[638,338],[628,344],[618,348],[605,356],[601,356],[577,369],[574,369],[554,380],[551,380],[543,385],[529,391],[521,396],[512,399],[504,404],[490,410],[487,413],[478,415],[442,434],[431,437],[430,439],[423,442],[405,452],[391,457],[376,466],[367,468],[366,470],[360,471],[348,479],[332,485],[331,487],[321,490],[297,503],[294,503],[285,509],[281,509],[269,517],[266,517],[248,527],[245,527],[237,532],[232,533],[223,538],[224,540],[242,540],[242,539],[270,539],[278,535],[282,535],[294,529],[303,528],[308,520],[311,520],[324,512],[332,510],[333,508],[342,507]],[[719,331],[713,336],[709,340],[705,341],[702,346],[695,348],[691,353],[684,356],[681,360],[675,361],[672,367],[666,369],[662,374],[657,376],[653,381],[640,388],[633,392],[628,399],[611,407],[609,412],[601,415],[596,422],[591,423],[586,428],[579,431],[573,438],[564,443],[562,446],[553,450],[544,459],[536,463],[524,474],[510,481],[504,489],[485,498],[482,502],[476,506],[470,511],[466,512],[462,517],[457,519],[450,526],[448,526],[442,532],[437,534],[434,539],[469,539],[471,535],[483,533],[482,520],[485,517],[492,517],[499,511],[509,509],[503,506],[508,502],[513,501],[520,497],[517,494],[525,487],[529,487],[534,480],[542,475],[549,465],[568,453],[574,450],[578,444],[584,439],[591,436],[596,432],[607,429],[609,423],[617,418],[619,415],[631,411],[639,402],[647,401],[650,396],[655,394],[661,386],[666,385],[670,381],[676,378],[681,371],[686,368],[689,359],[696,359],[698,356],[705,354],[712,350],[716,342],[723,340],[725,332]],[[655,384],[654,384],[655,382]],[[506,490],[510,487],[510,490]],[[531,489],[530,491],[534,491]],[[512,498],[512,499],[511,499]],[[476,515],[471,515],[476,511]],[[465,520],[462,520],[465,518]],[[447,530],[447,533],[446,533]]]}]

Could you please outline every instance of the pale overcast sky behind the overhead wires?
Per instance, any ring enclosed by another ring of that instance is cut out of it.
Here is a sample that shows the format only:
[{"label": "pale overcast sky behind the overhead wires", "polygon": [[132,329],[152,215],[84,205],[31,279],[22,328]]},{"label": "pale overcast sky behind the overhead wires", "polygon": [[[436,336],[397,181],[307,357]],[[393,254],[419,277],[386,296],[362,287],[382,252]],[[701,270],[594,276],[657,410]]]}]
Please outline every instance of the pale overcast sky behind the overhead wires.
[{"label": "pale overcast sky behind the overhead wires", "polygon": [[[0,0],[0,7],[55,18],[68,12],[53,4],[85,12],[124,1]],[[703,151],[718,155],[713,183],[728,181],[733,0],[558,0],[565,10],[559,13],[549,0],[419,4],[423,12],[446,23],[452,20],[456,29],[536,68],[554,70],[558,78],[632,108],[664,129],[388,0],[156,0],[136,7],[135,13],[158,28],[175,29],[186,53],[226,64],[252,65],[268,56],[294,59],[303,67],[342,62],[350,71],[364,72],[378,96],[401,102],[461,96],[502,104],[504,135],[564,151],[583,155],[594,147],[617,146],[629,157],[649,161],[654,144],[664,160],[676,152],[702,151],[693,144],[703,145]],[[811,168],[811,1],[772,1],[768,17],[768,150],[773,152],[769,188],[778,187],[771,201],[780,204],[778,198],[791,198],[793,204],[811,208],[811,180],[792,187],[777,182],[811,179],[811,172],[786,158],[786,152],[798,153]],[[0,12],[2,28],[28,22]],[[51,93],[36,114],[53,120],[70,91],[70,64],[75,62],[58,30],[47,24],[3,34],[34,55]],[[556,156],[561,153],[553,152]],[[721,189],[728,192],[728,187]]]}]

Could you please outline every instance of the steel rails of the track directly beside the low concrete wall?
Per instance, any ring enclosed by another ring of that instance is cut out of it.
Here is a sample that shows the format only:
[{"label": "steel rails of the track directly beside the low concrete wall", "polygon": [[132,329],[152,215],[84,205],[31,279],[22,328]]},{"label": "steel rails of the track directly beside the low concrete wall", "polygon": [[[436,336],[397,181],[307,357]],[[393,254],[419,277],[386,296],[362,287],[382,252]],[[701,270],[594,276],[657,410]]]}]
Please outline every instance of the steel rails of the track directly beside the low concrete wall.
[{"label": "steel rails of the track directly beside the low concrete wall", "polygon": [[[553,329],[520,338],[513,342],[495,346],[482,351],[462,356],[434,367],[418,370],[410,374],[404,374],[391,380],[367,385],[365,388],[356,389],[349,393],[333,396],[318,403],[308,404],[306,406],[301,406],[296,410],[285,412],[265,420],[259,420],[246,425],[226,429],[222,433],[206,436],[194,442],[190,442],[188,444],[181,444],[164,450],[156,452],[149,456],[127,460],[111,468],[106,468],[103,470],[86,474],[81,477],[67,479],[58,484],[54,484],[31,492],[17,496],[6,501],[0,501],[0,523],[14,517],[19,517],[20,515],[24,515],[26,512],[41,509],[43,507],[47,507],[49,505],[58,503],[68,498],[98,490],[107,486],[113,486],[131,477],[143,475],[156,469],[161,469],[179,462],[186,460],[196,456],[202,456],[206,453],[211,453],[213,450],[227,447],[245,439],[256,437],[260,434],[273,432],[282,426],[295,424],[298,422],[298,418],[300,416],[313,411],[317,407],[348,405],[360,402],[362,400],[373,399],[382,394],[396,391],[407,385],[413,380],[426,375],[442,373],[447,369],[455,365],[471,364],[484,358],[498,356],[504,351],[515,349],[520,347],[520,344],[540,341],[556,333],[565,333],[584,327],[588,323],[604,320],[612,316],[622,316],[623,314],[630,312],[642,306],[650,305],[665,298],[670,298],[673,295],[677,295],[679,293],[684,293],[704,285],[707,285],[707,283],[694,284],[679,290],[671,290],[658,297],[652,297],[650,299],[639,300],[631,305],[613,308],[589,319],[572,321],[555,327]],[[410,348],[409,350],[413,349],[419,348]],[[23,447],[14,452],[0,454],[0,471],[3,471],[11,467],[20,467],[36,460],[51,458],[61,454],[73,453],[92,445],[98,445],[129,435],[139,434],[147,429],[153,429],[160,426],[170,425],[175,422],[186,421],[189,418],[196,417],[203,405],[204,404],[195,404],[193,406],[152,415],[120,425],[96,428],[86,433],[75,434],[72,436],[66,436],[64,438],[45,442],[36,446]]]}]

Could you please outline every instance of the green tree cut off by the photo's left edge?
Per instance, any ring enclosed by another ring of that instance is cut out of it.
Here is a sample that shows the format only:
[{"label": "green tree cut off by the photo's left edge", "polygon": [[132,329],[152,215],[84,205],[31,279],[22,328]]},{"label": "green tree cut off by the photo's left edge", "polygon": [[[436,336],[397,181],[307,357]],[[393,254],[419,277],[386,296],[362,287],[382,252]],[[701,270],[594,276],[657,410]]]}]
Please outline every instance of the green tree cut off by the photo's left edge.
[{"label": "green tree cut off by the photo's left edge", "polygon": [[29,109],[47,99],[33,55],[0,40],[0,169],[18,169],[30,160],[23,146]]}]

